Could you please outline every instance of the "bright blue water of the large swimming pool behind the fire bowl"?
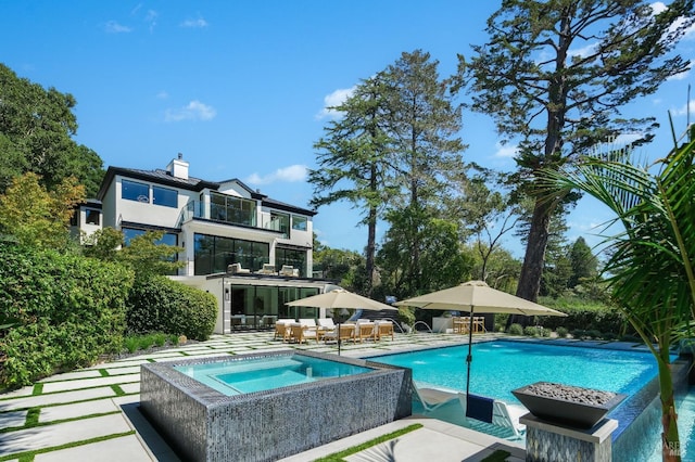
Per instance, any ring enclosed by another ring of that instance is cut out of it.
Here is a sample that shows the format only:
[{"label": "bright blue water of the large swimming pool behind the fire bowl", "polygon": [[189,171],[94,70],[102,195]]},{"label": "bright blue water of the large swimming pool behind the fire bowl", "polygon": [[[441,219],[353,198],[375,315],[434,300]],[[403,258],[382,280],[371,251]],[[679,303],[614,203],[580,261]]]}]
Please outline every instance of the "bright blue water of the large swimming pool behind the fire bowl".
[{"label": "bright blue water of the large swimming pool behind the fire bowl", "polygon": [[[413,370],[420,385],[466,389],[468,346],[370,358]],[[632,395],[657,375],[648,352],[521,342],[472,346],[470,393],[519,403],[511,390],[534,382],[558,382]]]}]

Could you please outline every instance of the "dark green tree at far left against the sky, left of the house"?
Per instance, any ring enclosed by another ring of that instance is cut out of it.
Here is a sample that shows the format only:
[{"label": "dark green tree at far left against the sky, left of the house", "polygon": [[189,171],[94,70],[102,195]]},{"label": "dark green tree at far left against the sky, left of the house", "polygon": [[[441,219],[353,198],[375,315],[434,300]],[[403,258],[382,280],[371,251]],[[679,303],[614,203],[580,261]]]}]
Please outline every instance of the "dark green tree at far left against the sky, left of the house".
[{"label": "dark green tree at far left against the sky, left of the house", "polygon": [[103,178],[103,162],[75,142],[77,102],[70,93],[45,89],[0,64],[0,193],[12,179],[34,172],[49,191],[74,176],[93,197]]}]

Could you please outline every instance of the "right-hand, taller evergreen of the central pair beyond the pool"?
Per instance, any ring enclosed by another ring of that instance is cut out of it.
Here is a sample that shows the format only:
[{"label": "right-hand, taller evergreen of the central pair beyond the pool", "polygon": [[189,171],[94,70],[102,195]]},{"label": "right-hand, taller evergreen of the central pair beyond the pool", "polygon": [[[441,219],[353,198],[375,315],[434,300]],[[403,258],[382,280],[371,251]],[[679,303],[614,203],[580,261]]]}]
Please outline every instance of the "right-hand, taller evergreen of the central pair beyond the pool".
[{"label": "right-hand, taller evergreen of the central pair beyond the pool", "polygon": [[[464,169],[460,153],[466,146],[456,136],[462,128],[460,107],[453,103],[451,81],[440,79],[438,66],[429,53],[415,50],[404,52],[384,73],[392,87],[389,133],[403,191],[396,208],[410,217],[429,217],[451,191],[447,178]],[[403,216],[399,219],[401,224],[418,226]],[[407,234],[413,238],[410,264],[403,270],[409,273],[412,287],[417,291],[424,284],[419,242],[422,234],[417,229]]]}]

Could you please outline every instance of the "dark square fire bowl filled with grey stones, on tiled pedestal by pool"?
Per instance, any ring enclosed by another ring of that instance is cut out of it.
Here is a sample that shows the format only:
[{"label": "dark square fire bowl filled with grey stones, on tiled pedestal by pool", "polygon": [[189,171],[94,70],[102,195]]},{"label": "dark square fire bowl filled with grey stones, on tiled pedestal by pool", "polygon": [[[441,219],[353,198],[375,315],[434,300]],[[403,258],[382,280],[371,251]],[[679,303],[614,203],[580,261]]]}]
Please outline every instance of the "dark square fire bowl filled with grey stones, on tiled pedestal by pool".
[{"label": "dark square fire bowl filled with grey stones, on tiled pedestal by pool", "polygon": [[539,419],[579,428],[591,428],[626,398],[599,389],[536,382],[511,394]]}]

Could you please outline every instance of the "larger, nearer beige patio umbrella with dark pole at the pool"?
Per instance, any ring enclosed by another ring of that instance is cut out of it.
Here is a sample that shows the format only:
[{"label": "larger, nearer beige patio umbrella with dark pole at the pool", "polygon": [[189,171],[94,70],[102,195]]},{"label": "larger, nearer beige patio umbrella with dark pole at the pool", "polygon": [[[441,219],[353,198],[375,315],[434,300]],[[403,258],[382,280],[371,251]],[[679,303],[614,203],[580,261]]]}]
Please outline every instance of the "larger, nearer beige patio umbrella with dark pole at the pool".
[{"label": "larger, nearer beige patio umbrella with dark pole at the pool", "polygon": [[473,311],[479,313],[510,313],[523,316],[567,316],[564,312],[546,308],[506,292],[490,287],[484,281],[468,281],[443,291],[420,295],[396,301],[397,306],[412,306],[422,309],[457,310],[470,313],[468,329],[468,356],[466,363],[466,396],[470,385],[470,362],[472,361]]}]

